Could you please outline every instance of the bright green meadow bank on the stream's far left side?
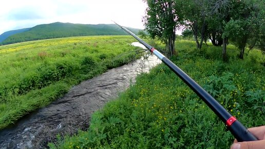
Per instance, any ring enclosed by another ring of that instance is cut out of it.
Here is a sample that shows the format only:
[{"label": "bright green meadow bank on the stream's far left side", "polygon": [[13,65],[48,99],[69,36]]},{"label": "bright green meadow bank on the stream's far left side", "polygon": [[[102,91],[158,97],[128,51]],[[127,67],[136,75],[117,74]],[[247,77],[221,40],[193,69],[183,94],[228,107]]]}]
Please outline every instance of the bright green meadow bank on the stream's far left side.
[{"label": "bright green meadow bank on the stream's far left side", "polygon": [[[130,36],[90,36],[0,46],[0,129],[68,89],[131,61]],[[119,55],[119,57],[117,57]]]}]

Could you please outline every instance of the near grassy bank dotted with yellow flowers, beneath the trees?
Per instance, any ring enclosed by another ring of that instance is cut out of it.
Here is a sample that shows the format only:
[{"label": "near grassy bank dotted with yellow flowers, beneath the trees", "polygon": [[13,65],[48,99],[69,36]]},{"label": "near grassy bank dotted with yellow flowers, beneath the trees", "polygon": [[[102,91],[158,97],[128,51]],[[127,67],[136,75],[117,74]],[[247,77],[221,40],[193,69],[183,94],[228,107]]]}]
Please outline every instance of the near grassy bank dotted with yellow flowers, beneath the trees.
[{"label": "near grassy bank dotted with yellow flowers, beneath the trees", "polygon": [[[260,51],[238,60],[228,47],[196,50],[178,41],[172,60],[247,127],[264,125],[264,66]],[[234,137],[213,111],[167,66],[141,74],[117,100],[93,114],[87,132],[59,137],[51,148],[229,148]]]}]

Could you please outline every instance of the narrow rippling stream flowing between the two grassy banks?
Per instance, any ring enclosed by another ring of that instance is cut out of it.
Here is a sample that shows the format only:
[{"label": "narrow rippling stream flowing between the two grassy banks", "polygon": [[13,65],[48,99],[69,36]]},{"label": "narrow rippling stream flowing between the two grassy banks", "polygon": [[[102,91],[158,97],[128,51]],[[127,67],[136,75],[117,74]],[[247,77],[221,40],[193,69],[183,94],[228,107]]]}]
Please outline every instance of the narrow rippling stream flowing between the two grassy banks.
[{"label": "narrow rippling stream flowing between the two grassy banks", "polygon": [[[133,45],[142,46],[139,43]],[[148,72],[158,63],[161,61],[152,55],[148,60],[137,60],[113,68],[72,87],[63,98],[0,131],[0,149],[45,148],[48,142],[55,140],[57,134],[72,135],[78,129],[86,130],[93,111],[116,98],[130,83],[134,83],[137,74]]]}]

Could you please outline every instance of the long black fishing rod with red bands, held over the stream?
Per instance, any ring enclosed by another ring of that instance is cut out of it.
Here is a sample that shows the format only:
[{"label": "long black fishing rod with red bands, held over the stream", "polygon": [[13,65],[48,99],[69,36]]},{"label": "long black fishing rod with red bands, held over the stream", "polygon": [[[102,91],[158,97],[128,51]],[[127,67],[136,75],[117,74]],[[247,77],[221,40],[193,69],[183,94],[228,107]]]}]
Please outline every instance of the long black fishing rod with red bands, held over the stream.
[{"label": "long black fishing rod with red bands, held over the stream", "polygon": [[[114,22],[117,24],[116,22]],[[214,113],[222,120],[225,126],[229,129],[232,135],[237,139],[238,142],[243,141],[256,141],[258,140],[251,132],[245,128],[235,117],[233,117],[219,102],[217,102],[206,90],[204,90],[198,83],[196,83],[190,76],[182,71],[173,62],[168,60],[162,53],[160,53],[154,47],[148,45],[146,42],[141,40],[133,32],[129,31],[123,26],[120,26],[127,33],[132,35],[136,40],[143,44],[151,53],[155,54],[166,66],[174,71],[177,76],[185,82],[206,104],[209,106]]]}]

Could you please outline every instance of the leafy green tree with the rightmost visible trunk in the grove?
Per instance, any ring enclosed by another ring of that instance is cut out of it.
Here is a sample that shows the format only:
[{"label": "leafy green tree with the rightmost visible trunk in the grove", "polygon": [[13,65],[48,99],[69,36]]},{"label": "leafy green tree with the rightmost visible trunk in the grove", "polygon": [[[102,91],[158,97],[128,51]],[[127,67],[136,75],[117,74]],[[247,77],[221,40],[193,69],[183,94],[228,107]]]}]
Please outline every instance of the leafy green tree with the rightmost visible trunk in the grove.
[{"label": "leafy green tree with the rightmost visible trunk in the grove", "polygon": [[258,17],[260,8],[253,1],[234,1],[233,4],[232,19],[225,25],[223,37],[231,39],[240,49],[239,58],[243,59],[248,41],[257,38],[260,34],[264,18]]}]

